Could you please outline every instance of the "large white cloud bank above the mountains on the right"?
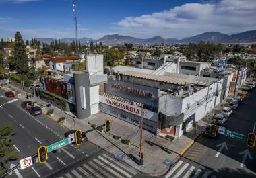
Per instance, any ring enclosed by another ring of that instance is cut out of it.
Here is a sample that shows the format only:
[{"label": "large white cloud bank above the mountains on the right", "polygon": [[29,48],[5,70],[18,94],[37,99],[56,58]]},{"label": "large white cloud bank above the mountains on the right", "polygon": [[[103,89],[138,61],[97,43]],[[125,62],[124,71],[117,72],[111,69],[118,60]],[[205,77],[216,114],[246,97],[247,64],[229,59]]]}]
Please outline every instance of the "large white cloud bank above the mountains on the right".
[{"label": "large white cloud bank above the mountains on the right", "polygon": [[255,0],[221,0],[186,3],[149,15],[125,17],[112,28],[121,34],[143,38],[156,35],[183,38],[209,31],[230,34],[256,30],[255,19]]}]

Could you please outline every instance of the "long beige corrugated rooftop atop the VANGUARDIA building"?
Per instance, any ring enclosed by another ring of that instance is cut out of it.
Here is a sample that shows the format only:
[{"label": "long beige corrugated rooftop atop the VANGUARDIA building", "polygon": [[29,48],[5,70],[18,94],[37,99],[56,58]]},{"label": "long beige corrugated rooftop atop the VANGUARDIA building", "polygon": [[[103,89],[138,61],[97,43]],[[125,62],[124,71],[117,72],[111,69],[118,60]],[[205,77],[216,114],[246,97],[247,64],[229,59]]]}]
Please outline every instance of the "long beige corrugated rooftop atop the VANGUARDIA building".
[{"label": "long beige corrugated rooftop atop the VANGUARDIA building", "polygon": [[148,73],[140,73],[137,71],[127,71],[120,73],[121,75],[129,75],[131,77],[138,77],[141,79],[148,79],[152,81],[160,81],[164,83],[171,83],[176,85],[201,85],[208,86],[211,83],[217,81],[217,79],[209,78],[209,77],[197,77],[193,75],[181,75],[175,73],[166,73],[165,75],[153,75]]}]

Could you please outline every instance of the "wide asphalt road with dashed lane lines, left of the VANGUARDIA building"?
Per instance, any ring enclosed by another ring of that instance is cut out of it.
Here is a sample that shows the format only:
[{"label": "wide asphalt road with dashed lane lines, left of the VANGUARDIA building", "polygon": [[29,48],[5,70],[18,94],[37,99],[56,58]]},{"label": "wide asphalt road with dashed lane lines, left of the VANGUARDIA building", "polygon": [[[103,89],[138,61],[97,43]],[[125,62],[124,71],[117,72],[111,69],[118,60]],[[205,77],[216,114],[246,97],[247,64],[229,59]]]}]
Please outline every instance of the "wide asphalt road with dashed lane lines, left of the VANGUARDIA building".
[{"label": "wide asphalt road with dashed lane lines, left of the VANGUARDIA building", "polygon": [[[13,99],[13,98],[11,98]],[[3,96],[0,90],[0,105],[11,100]],[[19,159],[37,152],[40,145],[49,145],[65,139],[66,128],[61,127],[47,116],[32,116],[20,107],[20,101],[0,108],[0,122],[11,122],[13,134],[11,139],[18,150]],[[11,164],[17,164],[11,161]],[[36,160],[36,162],[38,162]],[[8,163],[8,167],[10,167]],[[15,169],[7,178],[30,177],[147,177],[122,161],[115,161],[113,156],[92,144],[81,146],[68,145],[57,152],[49,153],[46,164],[34,163],[32,167]]]}]

